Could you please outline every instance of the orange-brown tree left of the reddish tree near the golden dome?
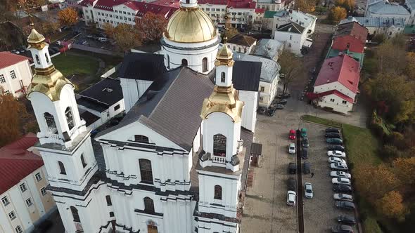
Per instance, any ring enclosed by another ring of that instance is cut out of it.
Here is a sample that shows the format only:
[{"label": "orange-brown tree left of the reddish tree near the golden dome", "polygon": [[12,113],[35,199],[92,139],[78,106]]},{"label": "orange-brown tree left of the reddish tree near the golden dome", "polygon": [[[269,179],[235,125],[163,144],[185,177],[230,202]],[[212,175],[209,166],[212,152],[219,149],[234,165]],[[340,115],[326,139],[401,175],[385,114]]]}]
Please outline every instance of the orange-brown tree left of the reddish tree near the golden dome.
[{"label": "orange-brown tree left of the reddish tree near the golden dome", "polygon": [[141,45],[139,34],[132,25],[121,23],[114,29],[113,39],[121,51]]}]

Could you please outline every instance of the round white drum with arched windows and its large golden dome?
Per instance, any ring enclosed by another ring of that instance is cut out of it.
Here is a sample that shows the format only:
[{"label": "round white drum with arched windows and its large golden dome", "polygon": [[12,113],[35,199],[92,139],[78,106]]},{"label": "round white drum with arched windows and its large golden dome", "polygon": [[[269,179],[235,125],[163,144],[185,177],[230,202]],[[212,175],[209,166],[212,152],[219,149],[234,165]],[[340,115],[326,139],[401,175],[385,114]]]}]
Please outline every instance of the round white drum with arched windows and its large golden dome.
[{"label": "round white drum with arched windows and its large golden dome", "polygon": [[187,66],[208,74],[215,67],[215,55],[221,37],[209,15],[197,0],[181,0],[180,8],[170,18],[162,37],[165,67]]}]

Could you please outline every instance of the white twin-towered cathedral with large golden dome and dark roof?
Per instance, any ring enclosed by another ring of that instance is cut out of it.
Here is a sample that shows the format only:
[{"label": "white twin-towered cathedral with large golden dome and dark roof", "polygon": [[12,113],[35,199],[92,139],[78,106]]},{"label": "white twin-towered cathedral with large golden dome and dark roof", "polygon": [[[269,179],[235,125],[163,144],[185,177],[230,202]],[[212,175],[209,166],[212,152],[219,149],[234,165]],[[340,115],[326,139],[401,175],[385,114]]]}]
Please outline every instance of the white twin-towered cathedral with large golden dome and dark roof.
[{"label": "white twin-towered cathedral with large golden dome and dark roof", "polygon": [[240,232],[261,63],[234,61],[220,41],[197,1],[181,0],[162,54],[125,56],[126,116],[91,138],[32,29],[27,98],[66,232]]}]

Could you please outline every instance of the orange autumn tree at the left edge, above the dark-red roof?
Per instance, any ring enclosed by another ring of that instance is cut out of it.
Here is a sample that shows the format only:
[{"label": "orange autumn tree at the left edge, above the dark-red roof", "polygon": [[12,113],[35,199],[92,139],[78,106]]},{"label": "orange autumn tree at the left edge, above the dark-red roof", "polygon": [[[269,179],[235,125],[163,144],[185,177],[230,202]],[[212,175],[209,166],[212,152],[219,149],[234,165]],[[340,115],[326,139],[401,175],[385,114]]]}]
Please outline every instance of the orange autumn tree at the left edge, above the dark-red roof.
[{"label": "orange autumn tree at the left edge, above the dark-red roof", "polygon": [[23,119],[27,117],[25,105],[3,90],[0,87],[0,147],[20,138]]}]

